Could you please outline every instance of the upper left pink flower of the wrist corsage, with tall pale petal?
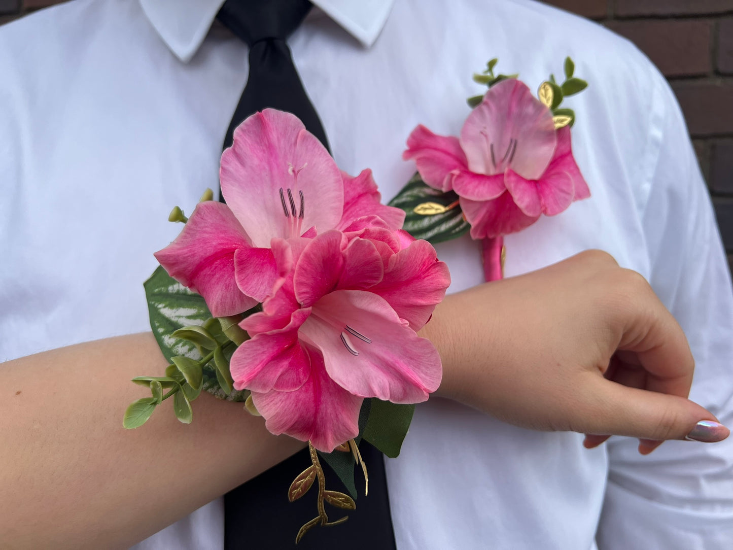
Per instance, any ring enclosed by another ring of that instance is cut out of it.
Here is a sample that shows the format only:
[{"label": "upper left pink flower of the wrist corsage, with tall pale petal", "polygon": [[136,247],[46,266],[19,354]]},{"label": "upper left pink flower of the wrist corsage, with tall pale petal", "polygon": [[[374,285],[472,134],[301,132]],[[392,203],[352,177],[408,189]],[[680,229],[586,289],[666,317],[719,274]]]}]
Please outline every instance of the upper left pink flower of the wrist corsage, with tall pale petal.
[{"label": "upper left pink flower of the wrist corsage, with tall pale petal", "polygon": [[[183,231],[155,257],[201,294],[212,315],[246,311],[277,278],[270,241],[345,229],[357,219],[402,227],[405,214],[380,204],[372,172],[342,173],[297,117],[265,109],[248,117],[221,155],[226,205],[196,206]],[[364,222],[367,223],[367,222]]]}]

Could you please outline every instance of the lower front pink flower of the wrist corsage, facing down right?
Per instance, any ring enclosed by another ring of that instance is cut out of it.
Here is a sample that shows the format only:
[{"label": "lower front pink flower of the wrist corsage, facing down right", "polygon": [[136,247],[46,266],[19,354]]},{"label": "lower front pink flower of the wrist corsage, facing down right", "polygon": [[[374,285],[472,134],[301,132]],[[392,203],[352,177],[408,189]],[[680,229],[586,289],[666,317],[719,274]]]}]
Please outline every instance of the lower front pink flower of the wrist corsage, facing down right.
[{"label": "lower front pink flower of the wrist corsage, facing down right", "polygon": [[450,284],[430,243],[352,224],[272,251],[279,278],[231,362],[270,432],[331,452],[358,434],[365,397],[419,403],[438,388],[440,356],[416,334]]}]

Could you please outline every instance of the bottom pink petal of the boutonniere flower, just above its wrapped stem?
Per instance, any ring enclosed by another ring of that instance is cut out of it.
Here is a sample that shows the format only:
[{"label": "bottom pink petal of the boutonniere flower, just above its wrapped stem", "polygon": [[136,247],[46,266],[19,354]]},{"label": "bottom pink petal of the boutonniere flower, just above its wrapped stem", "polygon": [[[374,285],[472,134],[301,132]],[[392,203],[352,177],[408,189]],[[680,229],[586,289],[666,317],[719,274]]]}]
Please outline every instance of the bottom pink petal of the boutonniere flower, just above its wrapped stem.
[{"label": "bottom pink petal of the boutonniere flower, just above its wrapped stem", "polygon": [[509,191],[484,202],[460,199],[460,206],[465,219],[471,224],[471,238],[476,240],[514,233],[539,219],[539,216],[523,213]]}]

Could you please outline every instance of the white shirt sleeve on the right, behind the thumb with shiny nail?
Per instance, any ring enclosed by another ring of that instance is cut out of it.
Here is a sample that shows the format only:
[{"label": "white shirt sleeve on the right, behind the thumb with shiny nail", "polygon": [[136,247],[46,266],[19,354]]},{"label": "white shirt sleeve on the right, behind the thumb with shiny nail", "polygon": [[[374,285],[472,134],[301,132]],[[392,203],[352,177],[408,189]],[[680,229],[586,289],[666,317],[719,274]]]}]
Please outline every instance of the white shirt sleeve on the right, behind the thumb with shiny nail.
[{"label": "white shirt sleeve on the right, behind the thumb with shiny nail", "polygon": [[[656,169],[641,209],[649,282],[682,326],[696,361],[690,399],[733,425],[733,290],[710,197],[685,120],[666,81]],[[644,182],[640,182],[644,185]],[[667,441],[647,456],[638,441],[608,442],[600,550],[733,548],[733,437]]]}]

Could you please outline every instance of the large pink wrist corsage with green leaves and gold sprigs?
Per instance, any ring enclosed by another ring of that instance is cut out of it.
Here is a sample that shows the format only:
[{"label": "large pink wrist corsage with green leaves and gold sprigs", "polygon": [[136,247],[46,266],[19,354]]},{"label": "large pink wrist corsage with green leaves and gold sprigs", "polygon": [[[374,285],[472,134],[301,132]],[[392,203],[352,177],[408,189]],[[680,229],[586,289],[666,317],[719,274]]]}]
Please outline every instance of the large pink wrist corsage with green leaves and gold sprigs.
[{"label": "large pink wrist corsage with green leaves and gold sprigs", "polygon": [[[287,494],[315,485],[318,514],[297,542],[345,521],[325,505],[356,507],[356,466],[367,483],[359,441],[396,456],[413,404],[438,389],[440,356],[417,331],[450,277],[430,243],[401,230],[402,210],[380,204],[371,171],[341,172],[292,114],[245,120],[220,180],[226,204],[207,191],[189,218],[174,208],[169,219],[183,230],[155,253],[161,267],[145,291],[170,364],[134,379],[151,396],[130,405],[123,425],[141,426],[169,398],[190,423],[206,389],[242,401],[271,433],[307,441],[312,463]],[[350,494],[326,490],[322,460]]]}]

